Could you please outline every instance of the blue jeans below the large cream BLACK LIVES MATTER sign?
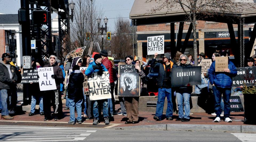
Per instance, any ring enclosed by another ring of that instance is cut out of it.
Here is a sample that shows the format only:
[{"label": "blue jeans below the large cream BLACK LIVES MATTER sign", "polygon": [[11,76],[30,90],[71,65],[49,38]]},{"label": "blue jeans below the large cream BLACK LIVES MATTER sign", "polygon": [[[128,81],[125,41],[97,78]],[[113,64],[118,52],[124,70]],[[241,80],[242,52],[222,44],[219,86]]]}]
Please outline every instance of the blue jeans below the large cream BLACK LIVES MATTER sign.
[{"label": "blue jeans below the large cream BLACK LIVES MATTER sign", "polygon": [[[92,102],[93,103],[93,116],[96,119],[99,119],[98,101],[99,100],[94,100]],[[101,102],[103,102],[103,117],[109,117],[109,107],[107,106],[107,99],[103,99],[103,100],[101,100]]]}]

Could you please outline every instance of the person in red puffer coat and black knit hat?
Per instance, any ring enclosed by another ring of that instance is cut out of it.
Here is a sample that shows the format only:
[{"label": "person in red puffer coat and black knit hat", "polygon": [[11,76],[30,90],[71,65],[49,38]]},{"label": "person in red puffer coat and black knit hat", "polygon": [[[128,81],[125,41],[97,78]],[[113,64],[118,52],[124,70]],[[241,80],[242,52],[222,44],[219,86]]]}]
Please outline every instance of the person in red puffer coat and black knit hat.
[{"label": "person in red puffer coat and black knit hat", "polygon": [[110,116],[113,117],[113,114],[115,113],[115,99],[114,99],[114,88],[115,88],[115,82],[114,82],[114,76],[113,76],[113,64],[111,61],[107,58],[107,50],[102,50],[99,53],[102,57],[102,64],[107,68],[109,71],[109,81],[110,81],[110,88],[111,88],[111,99],[108,99],[108,105],[109,105],[109,113]]}]

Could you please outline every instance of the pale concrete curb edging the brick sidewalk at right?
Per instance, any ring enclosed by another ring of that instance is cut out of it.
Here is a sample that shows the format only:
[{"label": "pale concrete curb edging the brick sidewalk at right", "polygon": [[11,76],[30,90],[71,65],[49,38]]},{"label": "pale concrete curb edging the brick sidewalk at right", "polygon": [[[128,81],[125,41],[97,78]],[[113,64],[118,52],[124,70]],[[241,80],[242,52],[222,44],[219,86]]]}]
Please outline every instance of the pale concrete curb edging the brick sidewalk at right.
[{"label": "pale concrete curb edging the brick sidewalk at right", "polygon": [[256,125],[158,124],[130,127],[115,127],[111,129],[256,133]]}]

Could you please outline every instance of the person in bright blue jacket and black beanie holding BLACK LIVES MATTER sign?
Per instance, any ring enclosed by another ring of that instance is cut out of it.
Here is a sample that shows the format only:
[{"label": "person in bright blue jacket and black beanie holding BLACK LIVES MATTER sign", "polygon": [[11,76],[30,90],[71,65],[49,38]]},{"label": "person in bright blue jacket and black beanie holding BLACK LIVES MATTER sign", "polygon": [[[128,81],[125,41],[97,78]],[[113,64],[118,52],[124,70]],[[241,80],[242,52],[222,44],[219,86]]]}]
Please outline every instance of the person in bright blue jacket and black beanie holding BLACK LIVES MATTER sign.
[{"label": "person in bright blue jacket and black beanie holding BLACK LIVES MATTER sign", "polygon": [[[98,72],[98,75],[102,75],[103,71],[107,71],[106,67],[101,63],[102,58],[100,54],[94,55],[94,62],[89,64],[89,67],[85,71],[86,76],[90,76],[94,72]],[[93,104],[93,125],[97,125],[99,123],[99,108],[98,103],[103,103],[103,117],[105,119],[105,124],[109,124],[109,107],[107,105],[107,99],[103,100],[93,100],[91,103]]]}]

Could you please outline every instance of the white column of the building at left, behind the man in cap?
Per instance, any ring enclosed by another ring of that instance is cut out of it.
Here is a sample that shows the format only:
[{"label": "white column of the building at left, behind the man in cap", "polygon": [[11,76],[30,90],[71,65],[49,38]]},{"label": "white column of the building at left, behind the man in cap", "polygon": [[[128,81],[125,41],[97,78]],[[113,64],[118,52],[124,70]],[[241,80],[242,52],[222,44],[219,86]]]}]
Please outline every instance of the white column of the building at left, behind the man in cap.
[{"label": "white column of the building at left, behind the man in cap", "polygon": [[[19,30],[16,30],[16,32],[19,32]],[[16,33],[16,44],[17,44],[17,66],[21,67],[21,61],[22,61],[22,34]]]}]

